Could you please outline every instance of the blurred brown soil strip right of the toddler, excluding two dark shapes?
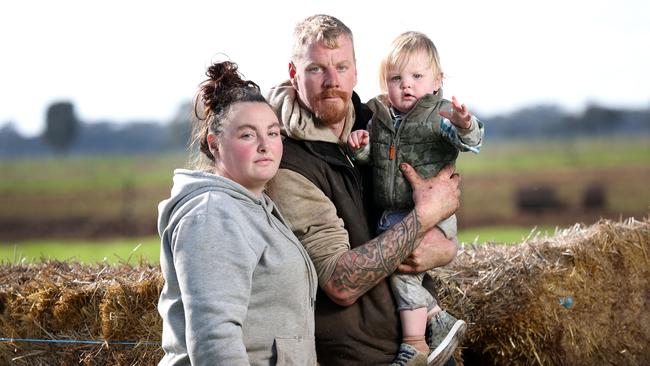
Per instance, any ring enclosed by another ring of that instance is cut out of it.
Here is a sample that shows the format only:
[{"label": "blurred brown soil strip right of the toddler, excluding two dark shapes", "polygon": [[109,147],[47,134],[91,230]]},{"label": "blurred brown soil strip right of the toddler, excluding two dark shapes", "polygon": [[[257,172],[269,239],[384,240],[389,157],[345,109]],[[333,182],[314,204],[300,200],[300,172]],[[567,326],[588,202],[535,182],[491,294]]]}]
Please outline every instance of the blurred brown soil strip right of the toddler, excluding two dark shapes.
[{"label": "blurred brown soil strip right of the toddler, excluding two dark shapes", "polygon": [[[625,166],[549,173],[467,175],[462,177],[459,226],[568,226],[593,224],[599,219],[619,220],[650,213],[650,166]],[[599,187],[600,207],[586,207],[590,187]],[[561,207],[539,211],[518,208],[520,189],[548,188]]]}]

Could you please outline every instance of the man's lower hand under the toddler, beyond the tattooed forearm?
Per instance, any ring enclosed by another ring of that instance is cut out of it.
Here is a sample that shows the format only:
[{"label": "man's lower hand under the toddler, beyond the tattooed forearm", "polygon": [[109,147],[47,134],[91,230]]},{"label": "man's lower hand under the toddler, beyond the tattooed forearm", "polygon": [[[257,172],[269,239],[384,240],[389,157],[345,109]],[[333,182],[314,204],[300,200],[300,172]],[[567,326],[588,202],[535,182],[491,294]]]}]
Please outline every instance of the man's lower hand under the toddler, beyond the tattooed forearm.
[{"label": "man's lower hand under the toddler, beyond the tattooed forearm", "polygon": [[438,228],[426,232],[420,245],[397,267],[399,272],[420,273],[449,264],[456,257],[456,243]]}]

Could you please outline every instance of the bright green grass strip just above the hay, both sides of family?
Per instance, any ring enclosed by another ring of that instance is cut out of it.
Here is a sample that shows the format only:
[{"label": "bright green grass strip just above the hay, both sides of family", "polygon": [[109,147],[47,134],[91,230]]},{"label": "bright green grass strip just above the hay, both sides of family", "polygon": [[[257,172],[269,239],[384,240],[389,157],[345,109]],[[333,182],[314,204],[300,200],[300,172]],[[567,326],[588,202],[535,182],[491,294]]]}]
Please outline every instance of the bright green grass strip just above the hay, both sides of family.
[{"label": "bright green grass strip just above the hay, both sides of family", "polygon": [[[459,241],[463,243],[497,242],[521,243],[533,228],[491,227],[459,231]],[[541,234],[552,235],[553,227],[538,228]],[[148,263],[158,263],[160,239],[149,236],[131,239],[101,241],[88,240],[31,240],[17,243],[0,243],[0,262],[34,263],[48,259],[75,261],[81,263],[105,262],[109,264],[137,264],[140,259]]]}]

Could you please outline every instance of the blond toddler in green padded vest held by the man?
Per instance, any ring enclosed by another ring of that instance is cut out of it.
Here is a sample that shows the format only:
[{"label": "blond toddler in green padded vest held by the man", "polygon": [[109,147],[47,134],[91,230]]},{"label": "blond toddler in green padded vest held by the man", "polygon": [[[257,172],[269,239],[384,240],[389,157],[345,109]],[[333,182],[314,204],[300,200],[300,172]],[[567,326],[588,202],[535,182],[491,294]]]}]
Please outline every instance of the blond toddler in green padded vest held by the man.
[{"label": "blond toddler in green padded vest held by the man", "polygon": [[[453,164],[459,151],[478,153],[483,124],[455,97],[442,98],[443,72],[433,42],[419,32],[398,36],[380,69],[381,90],[368,106],[373,111],[367,130],[353,131],[350,155],[373,165],[375,202],[384,210],[378,231],[400,222],[413,208],[412,190],[398,169],[411,164],[428,178]],[[456,217],[437,225],[456,241]],[[436,229],[434,229],[436,230]],[[442,365],[453,354],[467,325],[440,309],[422,287],[424,273],[394,273],[403,340],[393,365]]]}]

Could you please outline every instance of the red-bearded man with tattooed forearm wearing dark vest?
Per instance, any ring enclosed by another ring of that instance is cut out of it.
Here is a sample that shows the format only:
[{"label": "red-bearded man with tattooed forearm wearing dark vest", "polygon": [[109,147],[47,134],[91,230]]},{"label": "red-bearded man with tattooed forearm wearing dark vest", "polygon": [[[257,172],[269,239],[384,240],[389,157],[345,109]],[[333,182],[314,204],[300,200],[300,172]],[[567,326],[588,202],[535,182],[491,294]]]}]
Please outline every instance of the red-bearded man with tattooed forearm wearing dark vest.
[{"label": "red-bearded man with tattooed forearm wearing dark vest", "polygon": [[400,347],[400,325],[387,276],[423,272],[449,263],[456,246],[437,229],[458,208],[460,178],[452,167],[420,179],[400,169],[413,186],[415,209],[373,239],[362,172],[344,146],[364,128],[369,110],[357,82],[352,32],[327,15],[298,24],[290,80],[272,89],[269,102],[283,123],[284,156],[267,186],[318,273],[316,350],[328,365],[386,365]]}]

